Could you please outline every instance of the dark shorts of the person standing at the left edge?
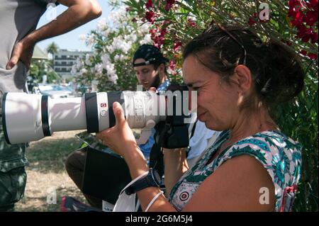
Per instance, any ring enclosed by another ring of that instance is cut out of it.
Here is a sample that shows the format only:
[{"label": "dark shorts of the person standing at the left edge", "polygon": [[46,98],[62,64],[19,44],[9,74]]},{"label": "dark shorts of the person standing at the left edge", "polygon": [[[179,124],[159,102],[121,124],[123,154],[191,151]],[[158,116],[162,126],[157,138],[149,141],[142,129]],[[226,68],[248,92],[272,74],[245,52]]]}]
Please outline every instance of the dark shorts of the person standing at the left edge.
[{"label": "dark shorts of the person standing at the left edge", "polygon": [[24,167],[11,171],[0,171],[0,211],[14,210],[14,203],[21,200],[26,188],[26,170]]}]

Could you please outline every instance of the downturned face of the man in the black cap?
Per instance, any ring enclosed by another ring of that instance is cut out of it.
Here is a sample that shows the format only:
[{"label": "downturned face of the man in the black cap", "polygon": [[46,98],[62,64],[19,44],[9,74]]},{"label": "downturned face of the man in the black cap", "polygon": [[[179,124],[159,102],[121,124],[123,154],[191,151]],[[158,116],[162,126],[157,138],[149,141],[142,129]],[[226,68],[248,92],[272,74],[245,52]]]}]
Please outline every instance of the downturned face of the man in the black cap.
[{"label": "downturned face of the man in the black cap", "polygon": [[[135,64],[140,64],[145,62],[144,59],[135,60]],[[138,83],[143,86],[144,89],[149,90],[150,87],[159,86],[159,72],[155,70],[154,65],[144,65],[139,67],[134,67],[136,77],[138,77]]]}]

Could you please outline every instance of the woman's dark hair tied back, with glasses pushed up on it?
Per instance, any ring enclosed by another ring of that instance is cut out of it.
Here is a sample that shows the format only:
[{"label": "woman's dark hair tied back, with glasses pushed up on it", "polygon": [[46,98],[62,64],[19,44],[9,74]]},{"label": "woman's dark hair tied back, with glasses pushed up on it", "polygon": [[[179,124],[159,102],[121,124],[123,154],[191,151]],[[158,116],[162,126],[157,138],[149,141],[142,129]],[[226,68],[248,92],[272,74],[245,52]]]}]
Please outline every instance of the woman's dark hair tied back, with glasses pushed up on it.
[{"label": "woman's dark hair tied back, with glasses pushed up on it", "polygon": [[257,98],[267,108],[303,90],[305,74],[296,54],[273,40],[263,43],[249,28],[210,28],[186,45],[183,59],[189,55],[228,82],[235,67],[245,64],[252,73]]}]

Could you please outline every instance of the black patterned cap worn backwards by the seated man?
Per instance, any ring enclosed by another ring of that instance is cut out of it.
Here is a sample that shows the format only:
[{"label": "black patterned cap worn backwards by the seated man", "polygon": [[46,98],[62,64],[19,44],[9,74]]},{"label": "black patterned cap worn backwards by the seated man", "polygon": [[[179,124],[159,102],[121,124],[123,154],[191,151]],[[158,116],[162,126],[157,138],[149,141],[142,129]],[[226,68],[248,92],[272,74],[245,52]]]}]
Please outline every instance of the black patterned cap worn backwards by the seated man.
[{"label": "black patterned cap worn backwards by the seated man", "polygon": [[[140,64],[134,64],[137,59],[144,59],[145,62]],[[138,50],[135,52],[133,57],[133,67],[144,66],[149,64],[162,64],[169,62],[169,60],[162,55],[162,52],[159,51],[154,45],[141,45]]]}]

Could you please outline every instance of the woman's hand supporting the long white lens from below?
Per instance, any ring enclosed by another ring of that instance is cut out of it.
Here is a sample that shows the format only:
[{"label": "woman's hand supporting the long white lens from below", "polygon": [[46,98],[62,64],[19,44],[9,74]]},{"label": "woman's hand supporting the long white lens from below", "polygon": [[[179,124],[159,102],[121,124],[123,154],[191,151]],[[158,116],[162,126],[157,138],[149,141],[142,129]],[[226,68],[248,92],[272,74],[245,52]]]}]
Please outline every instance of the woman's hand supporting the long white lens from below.
[{"label": "woman's hand supporting the long white lens from below", "polygon": [[116,117],[116,125],[108,130],[96,133],[96,137],[101,140],[103,145],[107,145],[114,152],[124,157],[127,152],[132,152],[138,145],[128,122],[125,120],[120,103],[113,103],[113,112]]}]

